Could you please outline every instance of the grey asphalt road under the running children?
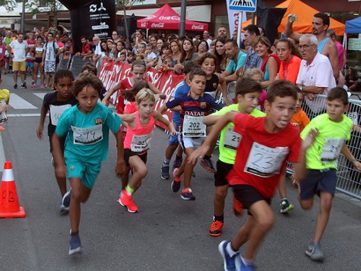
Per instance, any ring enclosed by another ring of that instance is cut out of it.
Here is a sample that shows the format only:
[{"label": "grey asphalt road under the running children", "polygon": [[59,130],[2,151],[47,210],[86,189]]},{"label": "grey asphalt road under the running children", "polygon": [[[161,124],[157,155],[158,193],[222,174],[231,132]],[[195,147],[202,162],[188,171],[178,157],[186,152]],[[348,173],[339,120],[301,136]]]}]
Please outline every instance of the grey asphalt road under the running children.
[{"label": "grey asphalt road under the running children", "polygon": [[[149,175],[134,197],[140,208],[136,214],[116,202],[120,181],[114,172],[115,140],[110,136],[108,160],[101,167],[89,201],[82,206],[83,254],[68,256],[69,218],[57,212],[60,192],[49,142],[46,137],[37,140],[39,117],[31,116],[40,112],[42,104],[41,95],[34,93],[50,90],[12,90],[10,75],[3,75],[2,88],[9,88],[35,108],[11,107],[9,120],[3,125],[6,131],[1,132],[26,218],[0,220],[0,270],[223,270],[217,245],[233,237],[244,217],[232,215],[228,197],[224,233],[219,238],[208,236],[212,175],[197,165],[192,185],[194,202],[185,202],[179,193],[171,192],[171,181],[160,179],[167,146],[167,135],[160,129],[156,129],[151,142]],[[274,197],[272,208],[277,222],[258,252],[259,270],[360,270],[360,202],[343,195],[335,197],[322,242],[326,260],[313,263],[305,256],[305,249],[314,232],[318,200],[312,211],[302,211],[291,186],[289,199],[295,209],[281,215],[279,197]]]}]

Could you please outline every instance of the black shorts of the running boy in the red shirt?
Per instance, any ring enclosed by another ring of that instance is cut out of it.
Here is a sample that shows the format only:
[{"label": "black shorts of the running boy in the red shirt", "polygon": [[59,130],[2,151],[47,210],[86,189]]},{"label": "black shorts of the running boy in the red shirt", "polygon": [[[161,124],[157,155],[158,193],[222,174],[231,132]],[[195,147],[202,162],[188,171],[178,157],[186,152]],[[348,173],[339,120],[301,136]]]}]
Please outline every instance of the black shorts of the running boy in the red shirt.
[{"label": "black shorts of the running boy in the red shirt", "polygon": [[[245,209],[249,209],[252,204],[259,202],[260,200],[264,200],[268,204],[271,204],[271,199],[263,197],[262,194],[253,186],[237,184],[232,186],[232,188],[235,199],[237,199],[237,201],[240,202]],[[249,213],[249,215],[251,215],[251,213]]]}]

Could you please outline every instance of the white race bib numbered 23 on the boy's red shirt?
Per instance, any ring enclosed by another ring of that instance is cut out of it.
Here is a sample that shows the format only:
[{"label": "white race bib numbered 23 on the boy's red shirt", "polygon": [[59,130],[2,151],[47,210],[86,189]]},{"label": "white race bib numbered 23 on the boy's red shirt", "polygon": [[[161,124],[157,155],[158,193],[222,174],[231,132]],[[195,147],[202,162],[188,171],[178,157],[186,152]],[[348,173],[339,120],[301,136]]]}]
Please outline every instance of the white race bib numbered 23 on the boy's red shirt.
[{"label": "white race bib numbered 23 on the boy's red shirt", "polygon": [[270,148],[253,142],[244,172],[263,178],[276,175],[288,152],[288,147]]}]

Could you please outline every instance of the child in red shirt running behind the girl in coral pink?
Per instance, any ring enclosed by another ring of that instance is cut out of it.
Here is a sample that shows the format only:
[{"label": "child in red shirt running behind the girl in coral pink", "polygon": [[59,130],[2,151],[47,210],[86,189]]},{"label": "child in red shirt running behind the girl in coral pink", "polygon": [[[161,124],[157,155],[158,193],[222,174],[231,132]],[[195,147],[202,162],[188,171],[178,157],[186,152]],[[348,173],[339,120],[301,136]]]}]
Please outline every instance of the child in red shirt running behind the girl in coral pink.
[{"label": "child in red shirt running behind the girl in coral pink", "polygon": [[[108,99],[110,96],[112,96],[117,90],[120,90],[118,93],[117,98],[117,113],[123,114],[124,113],[124,107],[126,105],[126,101],[124,101],[124,98],[121,96],[121,92],[123,90],[131,89],[135,82],[144,80],[144,76],[146,74],[146,65],[143,60],[135,60],[132,63],[131,68],[131,76],[126,77],[125,79],[122,79],[112,87],[108,92],[106,93],[106,96],[101,100],[101,102],[105,105],[108,105],[109,101]],[[149,89],[153,91],[154,94],[160,93],[160,91],[151,83],[148,81]]]}]

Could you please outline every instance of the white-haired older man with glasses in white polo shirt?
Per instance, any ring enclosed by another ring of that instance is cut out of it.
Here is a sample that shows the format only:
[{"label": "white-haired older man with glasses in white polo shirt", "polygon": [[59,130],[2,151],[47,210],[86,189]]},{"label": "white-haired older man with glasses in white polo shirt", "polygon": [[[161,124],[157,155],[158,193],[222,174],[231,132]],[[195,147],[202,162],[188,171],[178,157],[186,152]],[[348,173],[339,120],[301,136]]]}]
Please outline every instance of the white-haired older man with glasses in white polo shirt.
[{"label": "white-haired older man with glasses in white polo shirt", "polygon": [[314,95],[327,95],[331,88],[336,87],[330,60],[317,51],[317,43],[315,35],[301,36],[299,49],[303,60],[296,80],[296,84],[305,94],[306,104],[314,113],[321,112],[325,107],[324,99],[315,98]]}]

